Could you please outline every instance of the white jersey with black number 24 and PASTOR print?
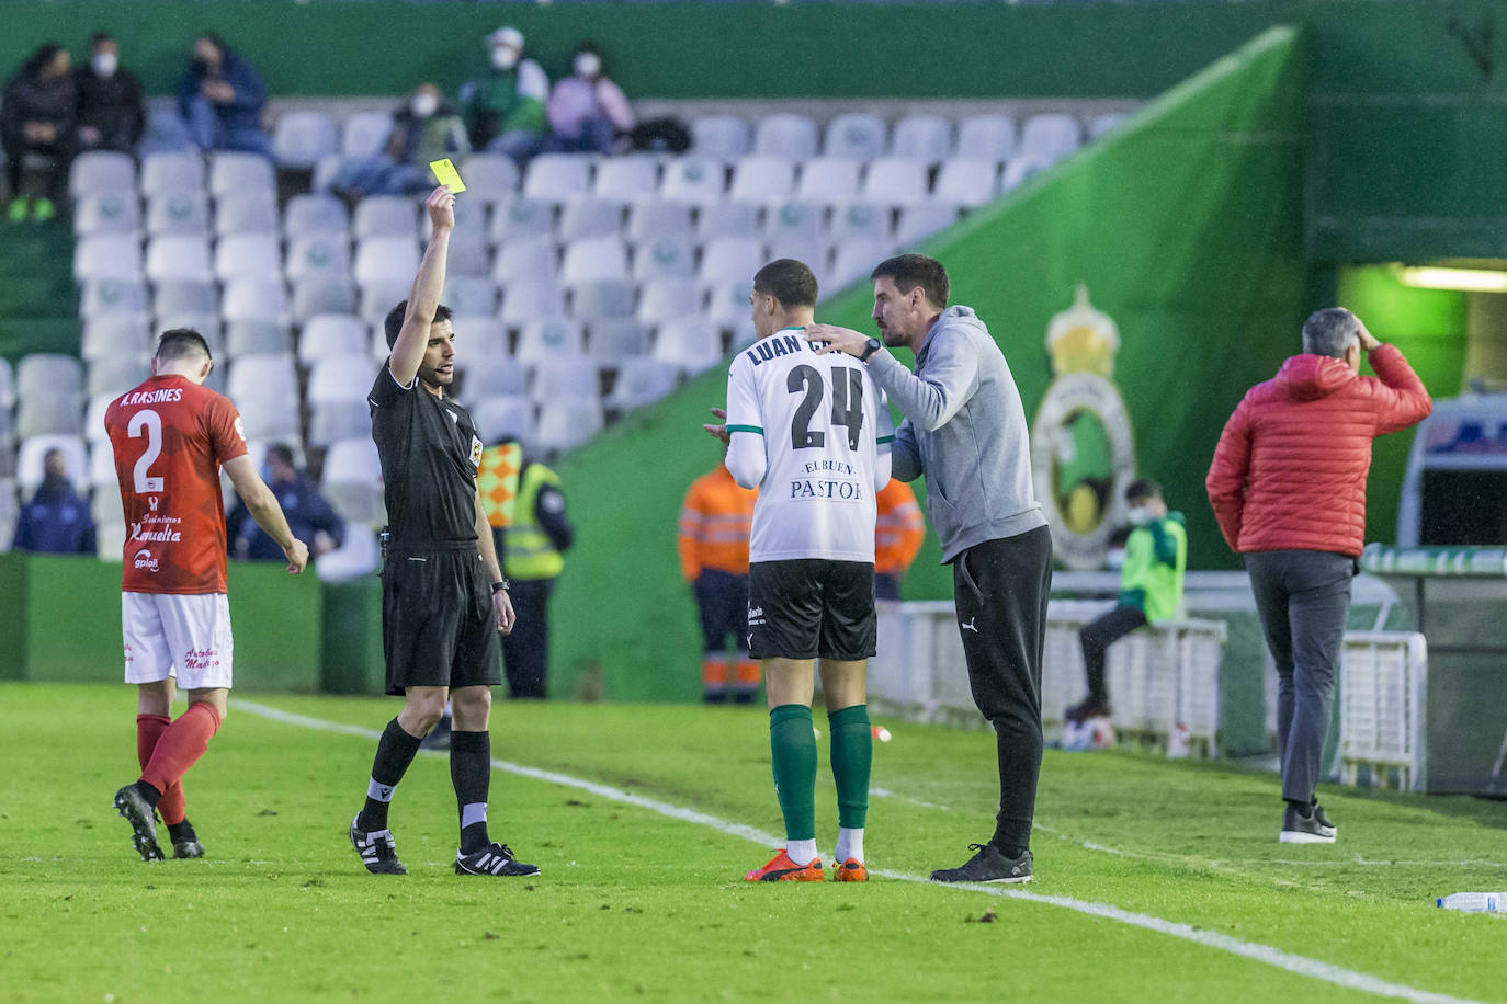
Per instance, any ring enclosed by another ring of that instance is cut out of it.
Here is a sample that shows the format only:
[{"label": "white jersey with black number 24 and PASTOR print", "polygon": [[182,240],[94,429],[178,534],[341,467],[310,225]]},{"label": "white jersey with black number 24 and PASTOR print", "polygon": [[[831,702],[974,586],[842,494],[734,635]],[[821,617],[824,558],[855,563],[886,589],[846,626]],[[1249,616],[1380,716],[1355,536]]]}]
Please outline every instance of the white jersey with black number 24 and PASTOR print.
[{"label": "white jersey with black number 24 and PASTOR print", "polygon": [[750,561],[874,561],[874,497],[895,434],[868,367],[781,328],[732,360],[728,434],[728,470],[760,489]]}]

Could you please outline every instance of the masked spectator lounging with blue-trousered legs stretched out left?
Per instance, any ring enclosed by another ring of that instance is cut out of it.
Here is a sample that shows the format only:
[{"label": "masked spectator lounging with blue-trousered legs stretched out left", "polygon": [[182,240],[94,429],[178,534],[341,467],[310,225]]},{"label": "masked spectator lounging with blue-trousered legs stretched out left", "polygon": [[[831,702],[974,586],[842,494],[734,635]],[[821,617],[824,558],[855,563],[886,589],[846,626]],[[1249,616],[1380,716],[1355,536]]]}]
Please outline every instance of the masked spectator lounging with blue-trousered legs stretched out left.
[{"label": "masked spectator lounging with blue-trousered legs stretched out left", "polygon": [[429,163],[469,152],[470,140],[460,114],[440,99],[436,84],[419,84],[392,116],[387,152],[347,158],[330,188],[347,199],[429,191],[434,188]]}]

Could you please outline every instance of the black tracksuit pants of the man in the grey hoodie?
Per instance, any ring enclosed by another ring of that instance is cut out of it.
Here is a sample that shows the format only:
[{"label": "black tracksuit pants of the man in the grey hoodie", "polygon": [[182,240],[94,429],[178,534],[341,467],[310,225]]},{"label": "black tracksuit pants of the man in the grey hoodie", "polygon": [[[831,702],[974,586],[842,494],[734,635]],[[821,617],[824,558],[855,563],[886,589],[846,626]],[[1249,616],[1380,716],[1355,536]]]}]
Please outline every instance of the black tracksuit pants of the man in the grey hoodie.
[{"label": "black tracksuit pants of the man in the grey hoodie", "polygon": [[1031,846],[1041,774],[1041,649],[1052,592],[1052,533],[1037,527],[986,540],[952,560],[967,682],[995,727],[999,816],[990,843],[1008,855]]}]

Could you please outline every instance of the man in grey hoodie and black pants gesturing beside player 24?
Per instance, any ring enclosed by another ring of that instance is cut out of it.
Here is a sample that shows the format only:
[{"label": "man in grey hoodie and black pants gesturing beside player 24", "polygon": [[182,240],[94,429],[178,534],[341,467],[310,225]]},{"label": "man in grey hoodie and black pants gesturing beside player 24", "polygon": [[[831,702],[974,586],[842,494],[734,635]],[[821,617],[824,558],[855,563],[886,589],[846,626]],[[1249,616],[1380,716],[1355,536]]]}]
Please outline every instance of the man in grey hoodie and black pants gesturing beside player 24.
[{"label": "man in grey hoodie and black pants gesturing beside player 24", "polygon": [[[892,473],[927,477],[927,515],[952,564],[958,632],[978,710],[999,747],[995,835],[971,844],[961,867],[936,882],[1029,882],[1031,820],[1041,772],[1041,646],[1052,587],[1052,536],[1031,483],[1029,429],[1020,391],[989,328],[969,307],[948,307],[942,263],[901,254],[874,278],[874,321],[883,345],[848,328],[812,325],[868,366],[906,415],[895,432]],[[912,373],[883,346],[907,346]]]}]

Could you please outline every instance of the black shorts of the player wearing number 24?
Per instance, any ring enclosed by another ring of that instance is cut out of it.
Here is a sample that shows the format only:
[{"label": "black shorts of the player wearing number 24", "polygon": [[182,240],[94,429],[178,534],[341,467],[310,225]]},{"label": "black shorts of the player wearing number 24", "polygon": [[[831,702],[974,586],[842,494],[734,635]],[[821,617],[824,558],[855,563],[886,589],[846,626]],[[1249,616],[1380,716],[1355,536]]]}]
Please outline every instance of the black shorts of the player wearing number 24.
[{"label": "black shorts of the player wearing number 24", "polygon": [[793,558],[749,564],[749,655],[838,659],[874,655],[874,566]]}]

